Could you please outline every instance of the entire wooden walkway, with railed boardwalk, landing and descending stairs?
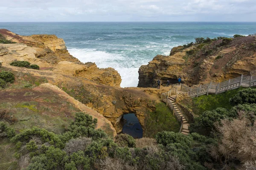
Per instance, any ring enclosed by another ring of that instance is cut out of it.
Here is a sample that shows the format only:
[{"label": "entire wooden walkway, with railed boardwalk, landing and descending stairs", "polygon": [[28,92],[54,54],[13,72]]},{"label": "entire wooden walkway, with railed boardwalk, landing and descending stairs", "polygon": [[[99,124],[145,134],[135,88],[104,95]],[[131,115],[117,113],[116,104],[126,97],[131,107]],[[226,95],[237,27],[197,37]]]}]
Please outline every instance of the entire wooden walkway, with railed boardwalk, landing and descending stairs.
[{"label": "entire wooden walkway, with railed boardwalk, landing and descending stairs", "polygon": [[240,87],[249,88],[253,86],[256,86],[256,76],[244,75],[220,83],[210,82],[209,84],[200,85],[198,88],[189,88],[184,84],[172,85],[170,91],[162,93],[161,100],[166,103],[166,106],[171,109],[173,115],[181,123],[179,132],[188,135],[189,122],[186,120],[186,118],[183,116],[183,113],[175,104],[177,94],[187,93],[189,97],[198,97],[208,94],[220,94]]}]

